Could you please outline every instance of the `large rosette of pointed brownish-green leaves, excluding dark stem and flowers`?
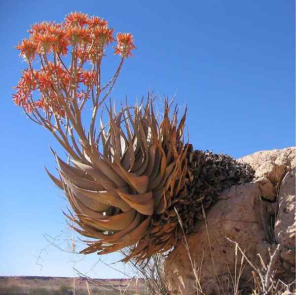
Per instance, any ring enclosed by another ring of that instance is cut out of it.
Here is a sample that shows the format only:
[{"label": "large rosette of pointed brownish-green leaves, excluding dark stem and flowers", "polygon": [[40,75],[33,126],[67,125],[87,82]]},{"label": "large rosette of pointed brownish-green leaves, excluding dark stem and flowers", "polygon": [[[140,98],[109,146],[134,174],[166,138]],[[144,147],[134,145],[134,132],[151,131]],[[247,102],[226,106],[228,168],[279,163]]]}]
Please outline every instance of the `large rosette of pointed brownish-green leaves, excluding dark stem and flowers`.
[{"label": "large rosette of pointed brownish-green leaves, excluding dark stem and flowers", "polygon": [[56,155],[60,179],[48,173],[74,210],[66,216],[77,232],[95,239],[85,241],[88,247],[81,253],[133,246],[126,260],[142,260],[177,244],[178,221],[170,218],[176,217],[173,204],[187,174],[185,115],[178,124],[178,109],[170,114],[165,100],[158,122],[150,97],[145,106],[119,113],[110,107],[109,123],[101,120],[97,142],[102,152],[95,161],[70,159],[67,164]]}]

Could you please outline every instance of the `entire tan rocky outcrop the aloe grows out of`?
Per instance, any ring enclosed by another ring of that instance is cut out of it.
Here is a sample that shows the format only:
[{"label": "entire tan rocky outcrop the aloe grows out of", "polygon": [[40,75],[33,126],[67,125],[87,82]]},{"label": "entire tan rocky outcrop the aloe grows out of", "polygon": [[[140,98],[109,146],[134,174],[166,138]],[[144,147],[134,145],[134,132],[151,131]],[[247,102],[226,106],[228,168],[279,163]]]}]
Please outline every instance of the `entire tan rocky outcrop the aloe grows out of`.
[{"label": "entire tan rocky outcrop the aloe grows out of", "polygon": [[[259,264],[258,253],[268,262],[268,248],[280,244],[278,275],[289,280],[295,274],[295,158],[296,149],[261,151],[239,159],[256,171],[251,183],[233,186],[222,192],[218,202],[206,212],[206,223],[198,222],[187,238],[188,249],[201,270],[200,284],[205,294],[217,294],[217,286],[233,276],[235,241],[249,259]],[[241,283],[252,277],[246,261]],[[165,263],[169,289],[194,292],[195,277],[185,246],[177,248]]]}]

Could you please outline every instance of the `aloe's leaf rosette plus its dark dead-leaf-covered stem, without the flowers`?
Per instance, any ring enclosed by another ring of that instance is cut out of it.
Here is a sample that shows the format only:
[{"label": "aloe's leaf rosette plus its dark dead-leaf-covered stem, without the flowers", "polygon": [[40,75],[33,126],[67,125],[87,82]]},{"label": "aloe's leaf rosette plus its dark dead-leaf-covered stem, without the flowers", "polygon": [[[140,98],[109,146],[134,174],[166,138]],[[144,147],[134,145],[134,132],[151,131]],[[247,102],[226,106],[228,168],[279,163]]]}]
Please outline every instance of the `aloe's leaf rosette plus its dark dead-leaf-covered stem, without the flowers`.
[{"label": "aloe's leaf rosette plus its dark dead-leaf-covered stem, without the flowers", "polygon": [[[149,259],[176,247],[217,201],[222,190],[249,182],[254,171],[233,158],[193,151],[184,142],[185,115],[178,124],[178,109],[157,120],[152,99],[145,106],[126,107],[118,114],[109,109],[109,123],[100,133],[102,153],[87,164],[56,157],[60,179],[74,214],[66,216],[77,226],[88,247],[81,253],[107,254],[128,248],[123,261]],[[126,253],[126,251],[125,251]]]}]

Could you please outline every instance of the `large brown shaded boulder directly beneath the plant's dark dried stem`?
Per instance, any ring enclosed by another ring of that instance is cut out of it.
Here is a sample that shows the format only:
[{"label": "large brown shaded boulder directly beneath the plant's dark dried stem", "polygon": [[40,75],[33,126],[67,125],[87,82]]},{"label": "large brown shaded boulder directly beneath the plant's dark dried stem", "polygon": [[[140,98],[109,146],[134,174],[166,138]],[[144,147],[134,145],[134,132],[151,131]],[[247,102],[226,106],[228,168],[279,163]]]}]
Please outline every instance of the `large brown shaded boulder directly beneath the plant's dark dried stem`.
[{"label": "large brown shaded boulder directly beneath the plant's dark dried stem", "polygon": [[[235,245],[226,237],[245,249],[250,259],[256,259],[259,252],[258,246],[261,246],[265,239],[260,217],[258,217],[257,210],[254,210],[254,207],[259,205],[257,201],[260,194],[257,183],[241,184],[225,190],[219,201],[207,213],[208,232],[205,223],[200,222],[196,225],[196,233],[188,238],[192,260],[195,260],[196,265],[201,265],[201,284],[205,294],[215,292],[216,286],[213,280],[215,281],[217,276],[221,278],[225,273],[227,274],[228,267],[230,272],[234,270]],[[175,252],[165,263],[166,279],[170,282],[171,289],[181,289],[184,294],[189,294],[193,292],[192,286],[195,280],[192,267],[188,263],[188,255],[184,246],[179,247]],[[240,254],[238,259],[239,267]],[[180,278],[175,276],[174,270],[176,269],[184,285],[180,283]],[[251,277],[251,268],[246,265],[242,279],[249,280]]]}]

